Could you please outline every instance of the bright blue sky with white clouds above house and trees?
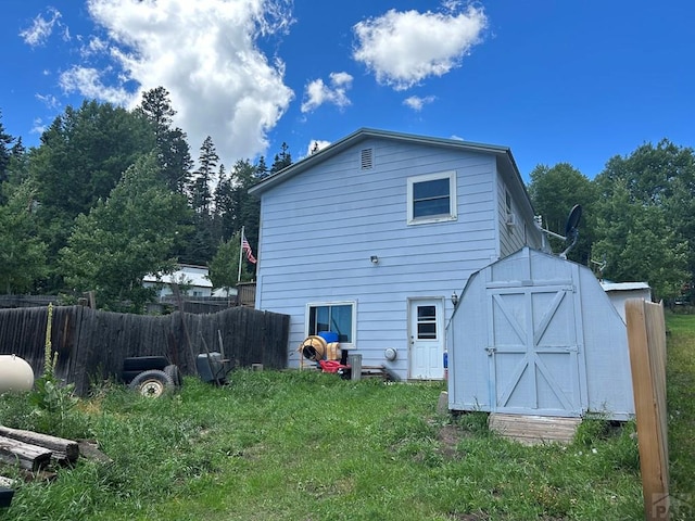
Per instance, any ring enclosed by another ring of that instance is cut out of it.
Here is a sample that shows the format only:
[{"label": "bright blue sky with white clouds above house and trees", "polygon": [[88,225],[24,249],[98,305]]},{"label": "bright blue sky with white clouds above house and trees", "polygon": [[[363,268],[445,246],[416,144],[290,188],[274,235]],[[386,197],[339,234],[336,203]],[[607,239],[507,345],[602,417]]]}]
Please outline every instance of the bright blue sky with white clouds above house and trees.
[{"label": "bright blue sky with white clouds above house and trees", "polygon": [[5,131],[165,87],[193,158],[230,166],[361,127],[509,147],[523,178],[667,138],[695,147],[695,2],[10,0]]}]

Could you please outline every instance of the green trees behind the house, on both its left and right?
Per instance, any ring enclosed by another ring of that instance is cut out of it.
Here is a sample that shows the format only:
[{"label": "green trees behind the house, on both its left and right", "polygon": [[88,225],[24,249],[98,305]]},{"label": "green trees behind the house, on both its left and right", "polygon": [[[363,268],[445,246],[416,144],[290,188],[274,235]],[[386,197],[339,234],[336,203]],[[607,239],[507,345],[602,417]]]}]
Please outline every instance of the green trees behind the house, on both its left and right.
[{"label": "green trees behind the house, on both its left and right", "polygon": [[[282,143],[270,166],[263,156],[225,166],[207,137],[194,162],[175,114],[163,87],[132,111],[84,101],[27,150],[0,112],[0,293],[96,291],[100,307],[139,313],[153,296],[143,277],[176,264],[207,265],[216,288],[237,282],[242,227],[252,245],[258,238],[260,202],[248,190],[292,157]],[[581,204],[569,258],[598,277],[646,281],[659,298],[692,285],[693,149],[645,143],[610,157],[594,179],[567,163],[538,165],[527,188],[558,233]],[[242,279],[251,278],[244,259]]]}]

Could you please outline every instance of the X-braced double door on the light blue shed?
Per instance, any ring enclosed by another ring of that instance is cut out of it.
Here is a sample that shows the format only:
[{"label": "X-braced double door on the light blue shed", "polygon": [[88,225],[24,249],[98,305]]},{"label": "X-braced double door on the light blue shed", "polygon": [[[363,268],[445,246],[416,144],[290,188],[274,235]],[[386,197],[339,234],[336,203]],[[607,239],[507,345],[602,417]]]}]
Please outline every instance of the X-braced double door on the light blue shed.
[{"label": "X-braced double door on the light blue shed", "polygon": [[581,416],[586,374],[574,287],[502,285],[488,285],[492,410]]}]

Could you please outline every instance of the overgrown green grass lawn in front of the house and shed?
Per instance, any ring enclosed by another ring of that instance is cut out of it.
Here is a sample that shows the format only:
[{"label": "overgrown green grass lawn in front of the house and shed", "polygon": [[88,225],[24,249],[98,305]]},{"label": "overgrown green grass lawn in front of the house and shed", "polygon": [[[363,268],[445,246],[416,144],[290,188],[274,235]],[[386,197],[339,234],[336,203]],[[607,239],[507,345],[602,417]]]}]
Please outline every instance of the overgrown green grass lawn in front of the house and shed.
[{"label": "overgrown green grass lawn in front of the house and shed", "polygon": [[[695,316],[669,316],[672,492],[695,476]],[[644,519],[634,424],[585,421],[568,446],[527,447],[485,415],[438,415],[442,383],[352,382],[313,371],[187,378],[159,399],[118,385],[62,418],[0,399],[0,423],[99,442],[52,483],[18,485],[3,520]],[[685,518],[683,518],[685,519]]]}]

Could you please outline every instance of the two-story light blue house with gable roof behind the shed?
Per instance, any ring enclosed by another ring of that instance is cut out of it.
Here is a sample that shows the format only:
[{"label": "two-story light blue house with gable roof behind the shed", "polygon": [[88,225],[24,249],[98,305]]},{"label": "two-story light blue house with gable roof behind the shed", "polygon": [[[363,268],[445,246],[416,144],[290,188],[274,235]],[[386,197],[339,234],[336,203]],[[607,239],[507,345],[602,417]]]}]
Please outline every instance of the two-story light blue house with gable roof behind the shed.
[{"label": "two-story light blue house with gable roof behind the shed", "polygon": [[442,379],[454,294],[490,263],[544,246],[506,147],[361,129],[250,192],[256,308],[291,317],[290,367],[306,336],[331,330],[363,366]]}]

